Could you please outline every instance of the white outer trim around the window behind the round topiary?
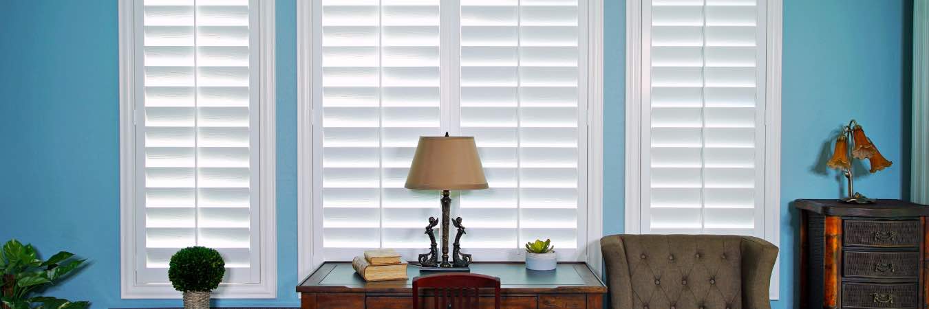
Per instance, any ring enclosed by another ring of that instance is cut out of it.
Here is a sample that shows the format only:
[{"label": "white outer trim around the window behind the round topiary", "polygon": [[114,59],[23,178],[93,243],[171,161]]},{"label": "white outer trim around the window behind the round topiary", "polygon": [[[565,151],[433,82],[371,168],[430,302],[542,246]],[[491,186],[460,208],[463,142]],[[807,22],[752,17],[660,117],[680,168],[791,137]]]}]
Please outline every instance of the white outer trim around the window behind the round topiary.
[{"label": "white outer trim around the window behind the round topiary", "polygon": [[[277,297],[277,229],[275,189],[275,0],[262,0],[259,10],[259,202],[261,226],[260,283],[220,284],[214,298],[251,299]],[[135,1],[119,1],[120,66],[120,287],[124,299],[179,299],[170,284],[136,283],[136,148],[135,104],[138,68],[134,44]]]}]

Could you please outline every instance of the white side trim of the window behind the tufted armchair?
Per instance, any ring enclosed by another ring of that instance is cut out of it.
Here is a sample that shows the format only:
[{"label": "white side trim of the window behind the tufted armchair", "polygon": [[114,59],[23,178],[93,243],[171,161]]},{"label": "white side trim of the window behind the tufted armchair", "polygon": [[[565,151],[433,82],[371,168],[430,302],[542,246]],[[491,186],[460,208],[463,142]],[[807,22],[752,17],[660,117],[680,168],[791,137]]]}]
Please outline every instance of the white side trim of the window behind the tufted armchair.
[{"label": "white side trim of the window behind the tufted armchair", "polygon": [[[642,6],[626,1],[626,145],[625,232],[639,234],[642,173]],[[782,0],[767,0],[765,42],[765,239],[780,246],[780,55],[783,31]],[[771,300],[780,297],[780,259],[771,275]]]}]

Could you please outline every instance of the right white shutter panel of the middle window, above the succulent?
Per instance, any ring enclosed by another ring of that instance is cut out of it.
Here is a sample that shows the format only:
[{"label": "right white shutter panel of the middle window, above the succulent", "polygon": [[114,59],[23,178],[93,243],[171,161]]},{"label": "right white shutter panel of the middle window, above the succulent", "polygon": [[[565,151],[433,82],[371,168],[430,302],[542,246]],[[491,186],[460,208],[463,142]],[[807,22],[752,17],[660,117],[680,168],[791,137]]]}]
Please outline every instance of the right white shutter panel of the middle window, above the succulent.
[{"label": "right white shutter panel of the middle window, above the succulent", "polygon": [[475,136],[491,187],[462,192],[467,250],[513,259],[500,249],[551,238],[572,257],[582,155],[577,1],[461,4],[460,127]]}]

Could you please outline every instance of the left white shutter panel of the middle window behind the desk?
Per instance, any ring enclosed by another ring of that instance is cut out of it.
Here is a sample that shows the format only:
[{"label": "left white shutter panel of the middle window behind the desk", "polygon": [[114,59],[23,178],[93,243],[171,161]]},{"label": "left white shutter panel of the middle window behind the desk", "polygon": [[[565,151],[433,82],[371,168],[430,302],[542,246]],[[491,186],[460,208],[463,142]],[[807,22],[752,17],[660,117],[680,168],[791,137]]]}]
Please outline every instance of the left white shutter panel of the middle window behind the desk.
[{"label": "left white shutter panel of the middle window behind the desk", "polygon": [[428,247],[438,195],[403,187],[420,135],[440,135],[438,0],[323,0],[326,260]]}]

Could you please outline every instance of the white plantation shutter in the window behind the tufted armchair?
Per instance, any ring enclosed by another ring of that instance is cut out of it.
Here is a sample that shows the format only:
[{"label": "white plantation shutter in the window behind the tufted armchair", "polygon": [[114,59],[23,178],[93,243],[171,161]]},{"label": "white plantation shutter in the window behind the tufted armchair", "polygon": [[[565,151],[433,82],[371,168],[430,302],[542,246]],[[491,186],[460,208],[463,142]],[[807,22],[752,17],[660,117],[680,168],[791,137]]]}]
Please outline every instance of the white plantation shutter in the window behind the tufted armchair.
[{"label": "white plantation shutter in the window behind the tufted armchair", "polygon": [[642,232],[764,237],[765,16],[765,0],[645,1]]}]

